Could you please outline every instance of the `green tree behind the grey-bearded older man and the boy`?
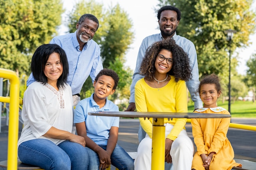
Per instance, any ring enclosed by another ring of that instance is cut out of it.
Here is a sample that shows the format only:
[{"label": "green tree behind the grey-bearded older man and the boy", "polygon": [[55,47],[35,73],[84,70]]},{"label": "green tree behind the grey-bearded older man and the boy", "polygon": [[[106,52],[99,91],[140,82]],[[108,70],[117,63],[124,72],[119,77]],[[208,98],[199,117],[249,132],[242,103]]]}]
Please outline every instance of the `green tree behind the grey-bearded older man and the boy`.
[{"label": "green tree behind the grey-bearded older man and the boy", "polygon": [[[70,24],[68,24],[68,27],[70,32],[76,31],[76,23],[85,11],[95,15],[99,20],[99,29],[95,33],[93,40],[101,48],[103,67],[116,71],[120,77],[117,91],[110,96],[110,99],[128,99],[130,96],[129,88],[132,81],[132,71],[124,66],[126,62],[124,56],[134,38],[131,32],[132,22],[128,18],[128,14],[120,8],[119,4],[115,7],[104,9],[101,3],[94,2],[93,0],[88,2],[81,0],[75,4],[69,14],[68,22]],[[81,98],[90,97],[94,92],[90,77],[85,81],[81,92]]]}]

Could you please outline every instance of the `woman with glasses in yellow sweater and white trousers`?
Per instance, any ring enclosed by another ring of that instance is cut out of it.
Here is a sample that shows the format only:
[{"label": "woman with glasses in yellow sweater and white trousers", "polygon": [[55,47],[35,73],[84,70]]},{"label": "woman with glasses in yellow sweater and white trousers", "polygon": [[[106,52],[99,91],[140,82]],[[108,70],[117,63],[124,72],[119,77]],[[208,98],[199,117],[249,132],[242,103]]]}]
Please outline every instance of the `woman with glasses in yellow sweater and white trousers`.
[{"label": "woman with glasses in yellow sweater and white trousers", "polygon": [[[189,58],[173,39],[155,42],[146,51],[135,85],[135,104],[139,112],[187,112],[185,81],[191,78]],[[135,170],[151,169],[152,119],[139,118],[146,137],[138,146]],[[191,170],[193,142],[185,129],[186,119],[164,119],[166,126],[165,161],[174,170]]]}]

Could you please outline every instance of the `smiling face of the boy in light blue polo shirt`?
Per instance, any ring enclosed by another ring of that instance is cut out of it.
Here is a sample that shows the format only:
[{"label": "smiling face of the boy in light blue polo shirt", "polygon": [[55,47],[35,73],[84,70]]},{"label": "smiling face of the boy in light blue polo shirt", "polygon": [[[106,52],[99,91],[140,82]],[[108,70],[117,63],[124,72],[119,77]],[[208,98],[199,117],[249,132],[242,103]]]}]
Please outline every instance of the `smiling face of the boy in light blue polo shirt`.
[{"label": "smiling face of the boy in light blue polo shirt", "polygon": [[94,81],[94,101],[106,99],[109,95],[115,92],[113,89],[115,81],[112,77],[108,75],[101,75],[97,82]]}]

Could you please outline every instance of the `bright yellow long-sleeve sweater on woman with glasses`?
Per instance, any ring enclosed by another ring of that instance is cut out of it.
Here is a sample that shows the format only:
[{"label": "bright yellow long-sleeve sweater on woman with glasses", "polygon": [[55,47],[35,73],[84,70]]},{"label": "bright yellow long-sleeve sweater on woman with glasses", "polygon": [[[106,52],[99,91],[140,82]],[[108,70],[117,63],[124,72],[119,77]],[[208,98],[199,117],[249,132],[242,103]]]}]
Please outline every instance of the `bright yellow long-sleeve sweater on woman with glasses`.
[{"label": "bright yellow long-sleeve sweater on woman with glasses", "polygon": [[[175,77],[162,88],[153,88],[146,84],[144,78],[137,81],[135,85],[135,104],[139,112],[177,112],[186,113],[187,93],[186,83],[183,80],[175,82]],[[139,118],[141,127],[152,138],[152,118],[149,120]],[[164,123],[173,124],[174,127],[168,139],[175,140],[182,129],[185,129],[186,118],[164,119]]]}]

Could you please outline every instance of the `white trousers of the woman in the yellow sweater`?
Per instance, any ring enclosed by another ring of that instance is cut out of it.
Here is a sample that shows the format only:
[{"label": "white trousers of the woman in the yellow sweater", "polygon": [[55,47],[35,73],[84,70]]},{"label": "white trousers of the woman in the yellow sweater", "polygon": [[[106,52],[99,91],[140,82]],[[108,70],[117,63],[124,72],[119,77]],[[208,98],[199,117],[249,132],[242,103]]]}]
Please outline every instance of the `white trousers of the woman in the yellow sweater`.
[{"label": "white trousers of the woman in the yellow sweater", "polygon": [[[172,124],[166,124],[165,137],[172,129]],[[135,170],[151,170],[151,151],[152,139],[146,134],[137,149],[137,158],[134,161]],[[193,154],[193,142],[187,135],[186,130],[183,129],[171,146],[170,155],[173,161],[173,170],[191,170]]]}]

